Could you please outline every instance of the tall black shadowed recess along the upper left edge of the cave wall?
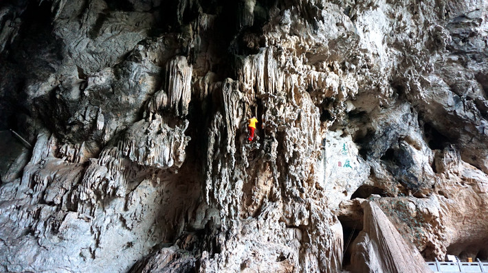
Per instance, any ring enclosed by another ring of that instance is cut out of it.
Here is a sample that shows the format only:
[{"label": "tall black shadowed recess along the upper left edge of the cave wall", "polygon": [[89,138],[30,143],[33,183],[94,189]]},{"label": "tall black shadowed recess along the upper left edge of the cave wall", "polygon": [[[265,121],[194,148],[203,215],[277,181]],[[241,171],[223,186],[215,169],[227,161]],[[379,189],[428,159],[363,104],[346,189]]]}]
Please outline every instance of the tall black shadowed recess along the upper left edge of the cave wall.
[{"label": "tall black shadowed recess along the upper left edge of the cave wall", "polygon": [[27,135],[28,126],[21,116],[33,113],[32,106],[25,102],[28,97],[24,91],[25,82],[47,78],[60,62],[60,45],[52,34],[51,4],[47,1],[28,3],[21,15],[23,24],[19,34],[0,54],[0,75],[9,82],[0,97],[0,130],[13,129]]}]

